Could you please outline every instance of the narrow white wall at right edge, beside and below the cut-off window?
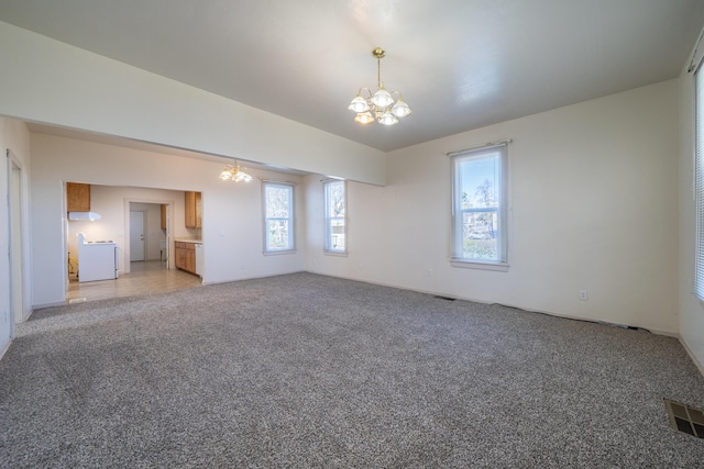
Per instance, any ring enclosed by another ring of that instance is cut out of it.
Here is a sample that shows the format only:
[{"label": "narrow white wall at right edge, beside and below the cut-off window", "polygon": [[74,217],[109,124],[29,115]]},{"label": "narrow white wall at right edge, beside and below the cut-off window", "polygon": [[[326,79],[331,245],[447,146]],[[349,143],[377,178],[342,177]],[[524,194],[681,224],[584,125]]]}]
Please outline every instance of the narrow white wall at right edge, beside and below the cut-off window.
[{"label": "narrow white wall at right edge, beside and below the cut-off window", "polygon": [[704,373],[704,304],[694,297],[694,78],[680,76],[680,337]]}]

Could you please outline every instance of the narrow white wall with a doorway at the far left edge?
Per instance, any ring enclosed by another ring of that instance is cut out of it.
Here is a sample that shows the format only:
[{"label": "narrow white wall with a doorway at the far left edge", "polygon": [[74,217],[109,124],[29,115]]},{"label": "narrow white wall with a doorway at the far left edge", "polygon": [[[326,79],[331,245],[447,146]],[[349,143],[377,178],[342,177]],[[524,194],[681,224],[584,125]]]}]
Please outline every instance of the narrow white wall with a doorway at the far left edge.
[{"label": "narrow white wall with a doorway at the far left edge", "polygon": [[[30,283],[31,278],[31,246],[30,246],[30,133],[26,126],[22,122],[0,118],[0,152],[2,153],[2,161],[0,163],[0,253],[2,256],[7,256],[10,248],[10,233],[8,226],[9,213],[7,198],[9,196],[8,183],[8,158],[4,156],[7,149],[12,150],[13,157],[16,158],[16,163],[21,168],[21,204],[22,204],[22,222],[23,222],[23,270],[24,270],[24,309],[25,314],[31,309],[31,291],[32,286]],[[10,282],[11,271],[8,258],[4,257],[0,261],[0,356],[4,353],[13,332],[12,310],[10,303]]]}]

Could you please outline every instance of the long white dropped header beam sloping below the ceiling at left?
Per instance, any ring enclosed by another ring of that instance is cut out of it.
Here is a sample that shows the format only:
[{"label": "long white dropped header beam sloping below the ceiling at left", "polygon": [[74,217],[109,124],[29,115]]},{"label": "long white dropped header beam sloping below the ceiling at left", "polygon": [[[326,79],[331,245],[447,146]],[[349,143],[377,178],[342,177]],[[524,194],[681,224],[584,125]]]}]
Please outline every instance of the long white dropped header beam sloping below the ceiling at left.
[{"label": "long white dropped header beam sloping below the ceiling at left", "polygon": [[383,185],[380,150],[0,22],[0,115]]}]

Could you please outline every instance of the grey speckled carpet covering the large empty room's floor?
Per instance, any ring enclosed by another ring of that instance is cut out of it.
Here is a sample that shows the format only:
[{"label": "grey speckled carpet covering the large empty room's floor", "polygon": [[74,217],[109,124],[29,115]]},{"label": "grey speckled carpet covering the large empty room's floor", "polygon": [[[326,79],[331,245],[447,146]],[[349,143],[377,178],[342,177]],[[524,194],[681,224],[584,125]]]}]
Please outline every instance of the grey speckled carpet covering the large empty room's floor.
[{"label": "grey speckled carpet covering the large empty room's floor", "polygon": [[0,466],[702,467],[674,338],[311,273],[37,311]]}]

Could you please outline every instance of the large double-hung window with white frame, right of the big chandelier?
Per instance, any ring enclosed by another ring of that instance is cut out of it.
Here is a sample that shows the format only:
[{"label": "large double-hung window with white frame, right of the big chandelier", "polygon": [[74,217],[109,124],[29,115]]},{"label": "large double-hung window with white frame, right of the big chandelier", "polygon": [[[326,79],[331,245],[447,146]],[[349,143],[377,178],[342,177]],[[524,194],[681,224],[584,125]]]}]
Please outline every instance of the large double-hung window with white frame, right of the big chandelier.
[{"label": "large double-hung window with white frame, right of the big chandelier", "polygon": [[453,265],[506,270],[507,144],[451,156]]}]

